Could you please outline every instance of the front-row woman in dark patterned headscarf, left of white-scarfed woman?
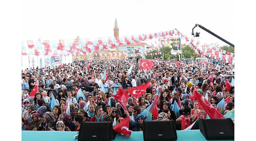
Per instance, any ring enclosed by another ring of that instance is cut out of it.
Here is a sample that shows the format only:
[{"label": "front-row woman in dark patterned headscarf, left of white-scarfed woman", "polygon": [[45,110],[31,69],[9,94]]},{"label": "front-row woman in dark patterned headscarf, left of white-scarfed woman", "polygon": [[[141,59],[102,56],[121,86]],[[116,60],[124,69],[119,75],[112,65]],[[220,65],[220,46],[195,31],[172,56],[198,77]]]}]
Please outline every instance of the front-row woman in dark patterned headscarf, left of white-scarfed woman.
[{"label": "front-row woman in dark patterned headscarf, left of white-scarfed woman", "polygon": [[49,128],[56,130],[55,127],[55,117],[53,112],[46,112],[43,114],[44,121],[42,121],[38,127],[39,131],[49,131]]}]

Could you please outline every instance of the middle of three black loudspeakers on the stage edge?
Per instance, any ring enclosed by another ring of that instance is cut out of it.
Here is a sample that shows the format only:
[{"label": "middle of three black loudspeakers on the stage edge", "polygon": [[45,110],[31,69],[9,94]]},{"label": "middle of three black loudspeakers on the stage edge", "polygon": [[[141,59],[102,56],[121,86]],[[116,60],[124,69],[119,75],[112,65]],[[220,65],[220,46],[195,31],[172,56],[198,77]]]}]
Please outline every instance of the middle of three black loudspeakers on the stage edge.
[{"label": "middle of three black loudspeakers on the stage edge", "polygon": [[144,141],[176,141],[177,133],[174,120],[170,121],[144,121]]}]

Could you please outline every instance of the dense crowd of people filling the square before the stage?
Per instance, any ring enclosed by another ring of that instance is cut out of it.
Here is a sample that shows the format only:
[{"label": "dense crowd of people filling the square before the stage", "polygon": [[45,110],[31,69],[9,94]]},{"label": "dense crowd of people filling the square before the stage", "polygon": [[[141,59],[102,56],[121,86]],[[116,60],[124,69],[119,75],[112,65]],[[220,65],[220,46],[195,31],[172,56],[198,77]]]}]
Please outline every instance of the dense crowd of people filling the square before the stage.
[{"label": "dense crowd of people filling the square before the stage", "polygon": [[[88,60],[46,68],[32,67],[22,70],[22,130],[79,131],[86,122],[120,123],[130,116],[129,129],[142,131],[147,116],[141,114],[158,96],[158,121],[174,120],[176,130],[183,130],[196,119],[205,118],[197,101],[189,99],[193,88],[217,108],[221,99],[232,97],[224,113],[234,108],[234,86],[226,90],[225,79],[234,78],[234,65],[178,61],[153,60],[152,69],[139,69],[138,60]],[[132,71],[128,70],[132,67]],[[104,72],[106,70],[106,75]],[[213,74],[211,86],[209,76]],[[106,78],[104,78],[106,76]],[[113,98],[119,89],[130,89],[150,81],[139,98],[129,94],[126,110]],[[38,85],[34,98],[29,96]],[[83,97],[77,98],[81,89]],[[51,107],[53,101],[57,105]],[[180,116],[176,117],[172,107],[181,101]],[[110,104],[109,104],[110,101]],[[84,107],[89,102],[88,110]],[[70,111],[66,111],[69,104]]]}]

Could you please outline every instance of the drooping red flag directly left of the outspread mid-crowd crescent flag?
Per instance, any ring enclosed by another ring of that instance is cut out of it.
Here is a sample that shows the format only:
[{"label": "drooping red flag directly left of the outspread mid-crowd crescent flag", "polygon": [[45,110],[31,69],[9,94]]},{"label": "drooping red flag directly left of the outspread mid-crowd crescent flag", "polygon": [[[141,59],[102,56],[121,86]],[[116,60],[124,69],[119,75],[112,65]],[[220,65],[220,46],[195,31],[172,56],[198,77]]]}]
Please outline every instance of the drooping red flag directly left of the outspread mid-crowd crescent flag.
[{"label": "drooping red flag directly left of the outspread mid-crowd crescent flag", "polygon": [[124,110],[126,110],[126,103],[128,102],[128,94],[126,91],[124,91],[123,89],[119,89],[117,91],[117,94],[114,95],[114,99],[117,100],[120,105],[122,106],[122,108],[124,108]]}]

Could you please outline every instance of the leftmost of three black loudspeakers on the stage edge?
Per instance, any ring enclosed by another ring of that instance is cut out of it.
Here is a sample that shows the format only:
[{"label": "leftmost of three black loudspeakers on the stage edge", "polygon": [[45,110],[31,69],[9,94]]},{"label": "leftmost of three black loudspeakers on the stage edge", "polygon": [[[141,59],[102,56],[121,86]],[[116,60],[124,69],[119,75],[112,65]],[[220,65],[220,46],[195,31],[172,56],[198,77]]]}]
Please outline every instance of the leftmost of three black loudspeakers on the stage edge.
[{"label": "leftmost of three black loudspeakers on the stage edge", "polygon": [[111,122],[82,122],[78,141],[111,141]]}]

